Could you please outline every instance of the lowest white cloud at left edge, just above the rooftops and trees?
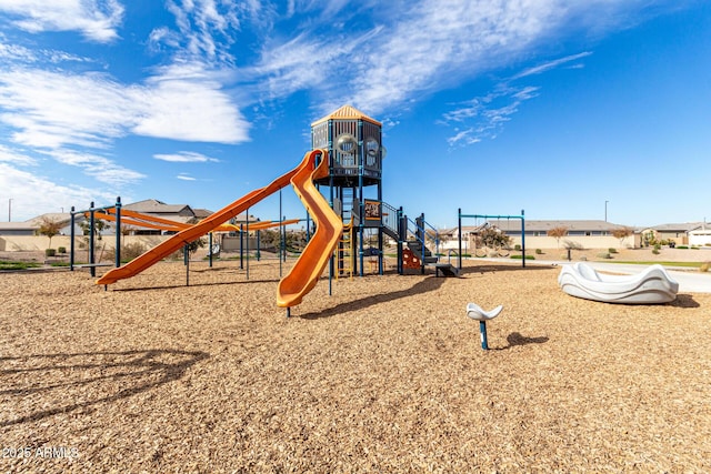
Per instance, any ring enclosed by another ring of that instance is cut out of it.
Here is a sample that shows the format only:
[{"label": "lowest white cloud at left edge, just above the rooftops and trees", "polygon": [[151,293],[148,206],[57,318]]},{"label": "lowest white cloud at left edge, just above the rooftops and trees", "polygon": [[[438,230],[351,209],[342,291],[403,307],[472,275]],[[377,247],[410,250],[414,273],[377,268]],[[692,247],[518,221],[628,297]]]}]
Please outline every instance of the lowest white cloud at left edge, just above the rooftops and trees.
[{"label": "lowest white cloud at left edge, just above the rooftops and trees", "polygon": [[116,194],[106,190],[59,185],[48,178],[0,162],[0,199],[12,200],[12,221],[27,221],[46,212],[69,212],[90,202],[112,203]]}]

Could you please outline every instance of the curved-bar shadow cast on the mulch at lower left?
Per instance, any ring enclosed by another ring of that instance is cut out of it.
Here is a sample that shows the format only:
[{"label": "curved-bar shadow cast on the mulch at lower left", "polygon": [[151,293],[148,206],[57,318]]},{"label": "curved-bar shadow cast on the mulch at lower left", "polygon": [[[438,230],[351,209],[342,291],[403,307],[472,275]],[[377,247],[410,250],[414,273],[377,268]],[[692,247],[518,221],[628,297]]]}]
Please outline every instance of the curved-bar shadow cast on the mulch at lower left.
[{"label": "curved-bar shadow cast on the mulch at lower left", "polygon": [[[206,352],[147,350],[0,357],[2,385],[12,386],[12,389],[0,390],[2,404],[11,405],[11,409],[2,410],[0,426],[36,422],[59,413],[89,409],[156,389],[181,379],[188,369],[209,356],[210,354]],[[52,372],[61,372],[63,376],[49,376]],[[91,372],[96,372],[97,375],[87,377]],[[76,377],[72,379],[66,374],[76,374]],[[17,380],[13,381],[13,377]],[[43,384],[46,380],[56,382]],[[101,385],[102,383],[106,385]],[[97,390],[97,385],[101,390]],[[120,390],[107,394],[106,392],[112,386],[119,386]],[[83,401],[74,400],[69,404],[56,402],[49,407],[41,403],[37,406],[42,409],[31,413],[17,413],[22,410],[20,400],[27,396],[46,395],[49,399],[62,401],[70,397],[60,396],[56,391],[67,391],[71,395],[76,395],[79,391],[80,395],[84,393],[89,395]],[[91,395],[97,392],[98,394]]]}]

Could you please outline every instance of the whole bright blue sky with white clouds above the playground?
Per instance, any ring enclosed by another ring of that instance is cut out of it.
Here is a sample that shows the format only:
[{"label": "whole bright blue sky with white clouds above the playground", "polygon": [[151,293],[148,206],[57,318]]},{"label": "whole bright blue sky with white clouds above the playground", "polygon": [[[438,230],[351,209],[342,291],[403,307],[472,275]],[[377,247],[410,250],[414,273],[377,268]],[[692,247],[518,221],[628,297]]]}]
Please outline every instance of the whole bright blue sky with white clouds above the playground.
[{"label": "whole bright blue sky with white clouds above the playground", "polygon": [[711,220],[710,31],[701,0],[0,0],[0,221],[218,210],[343,104],[383,123],[384,200],[435,226]]}]

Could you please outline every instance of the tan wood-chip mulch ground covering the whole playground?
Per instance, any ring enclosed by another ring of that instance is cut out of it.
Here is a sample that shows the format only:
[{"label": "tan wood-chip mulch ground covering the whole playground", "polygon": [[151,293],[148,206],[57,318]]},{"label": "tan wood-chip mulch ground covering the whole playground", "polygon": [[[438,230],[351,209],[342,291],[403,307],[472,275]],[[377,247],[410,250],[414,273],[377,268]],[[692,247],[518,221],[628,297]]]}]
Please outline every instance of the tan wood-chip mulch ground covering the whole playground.
[{"label": "tan wood-chip mulch ground covering the whole playground", "polygon": [[[0,470],[711,471],[711,294],[465,265],[322,279],[289,319],[276,261],[0,274]],[[490,351],[468,302],[504,306]]]}]

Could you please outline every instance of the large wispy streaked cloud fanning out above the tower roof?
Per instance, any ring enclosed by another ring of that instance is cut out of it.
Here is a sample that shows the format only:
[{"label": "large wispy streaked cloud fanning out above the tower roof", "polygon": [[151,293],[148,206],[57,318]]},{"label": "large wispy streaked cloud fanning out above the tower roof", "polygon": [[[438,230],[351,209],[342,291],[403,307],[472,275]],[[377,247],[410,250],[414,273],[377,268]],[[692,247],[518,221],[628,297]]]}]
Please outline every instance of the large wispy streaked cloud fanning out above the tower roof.
[{"label": "large wispy streaked cloud fanning out above the tower roof", "polygon": [[[343,103],[370,114],[398,111],[427,94],[524,61],[545,41],[624,28],[640,10],[653,10],[643,0],[365,3],[372,4],[289,2],[287,17],[301,20],[299,28],[284,38],[267,31],[261,60],[249,71],[260,79],[262,92],[282,99],[308,90],[321,104],[319,113]],[[668,9],[672,3],[651,2]],[[338,13],[319,14],[330,9]],[[564,63],[580,68],[574,61],[589,54],[541,64],[520,78]]]}]

